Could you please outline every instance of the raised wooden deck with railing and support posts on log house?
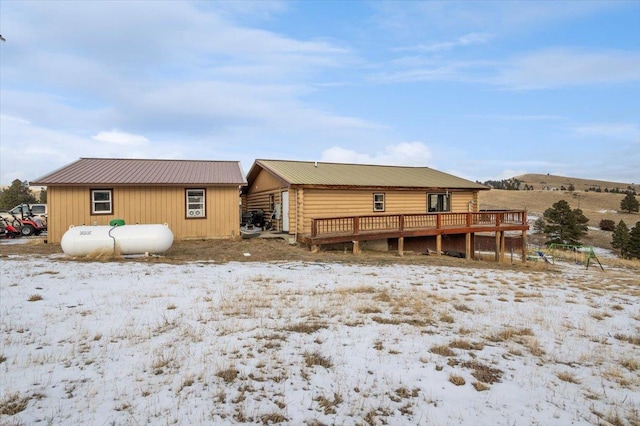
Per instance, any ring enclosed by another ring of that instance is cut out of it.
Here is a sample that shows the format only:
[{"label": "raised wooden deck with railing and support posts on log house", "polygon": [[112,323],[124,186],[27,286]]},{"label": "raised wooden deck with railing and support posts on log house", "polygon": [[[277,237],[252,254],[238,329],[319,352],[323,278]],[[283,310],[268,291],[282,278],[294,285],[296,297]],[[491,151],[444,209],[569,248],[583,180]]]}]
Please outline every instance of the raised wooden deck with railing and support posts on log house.
[{"label": "raised wooden deck with railing and support posts on log house", "polygon": [[[350,241],[357,245],[359,241],[398,238],[401,253],[407,237],[436,236],[439,247],[442,235],[465,234],[470,241],[471,234],[495,232],[498,258],[504,255],[504,250],[500,250],[504,244],[504,232],[521,231],[524,237],[528,230],[527,212],[524,210],[343,216],[312,219],[311,234],[299,235],[298,240],[315,247]],[[357,251],[355,246],[354,251]]]}]

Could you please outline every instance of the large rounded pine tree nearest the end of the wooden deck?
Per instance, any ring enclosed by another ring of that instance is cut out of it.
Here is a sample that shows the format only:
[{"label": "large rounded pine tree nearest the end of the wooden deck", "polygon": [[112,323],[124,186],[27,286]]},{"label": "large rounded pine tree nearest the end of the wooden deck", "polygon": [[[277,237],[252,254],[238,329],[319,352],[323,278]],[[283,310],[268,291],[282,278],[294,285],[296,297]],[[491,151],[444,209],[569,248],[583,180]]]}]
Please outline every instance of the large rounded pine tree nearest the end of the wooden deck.
[{"label": "large rounded pine tree nearest the end of the wooden deck", "polygon": [[547,236],[547,244],[579,245],[580,238],[587,234],[589,219],[582,210],[571,210],[571,206],[565,200],[554,203],[543,216],[546,221],[544,233]]}]

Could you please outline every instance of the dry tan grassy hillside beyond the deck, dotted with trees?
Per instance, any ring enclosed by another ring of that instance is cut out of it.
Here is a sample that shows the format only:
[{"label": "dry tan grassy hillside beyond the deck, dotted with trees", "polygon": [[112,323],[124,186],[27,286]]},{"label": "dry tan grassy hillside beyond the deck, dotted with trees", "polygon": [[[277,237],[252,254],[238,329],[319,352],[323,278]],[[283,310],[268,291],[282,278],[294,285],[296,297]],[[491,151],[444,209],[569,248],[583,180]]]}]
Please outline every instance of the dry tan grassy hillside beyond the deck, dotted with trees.
[{"label": "dry tan grassy hillside beyond the deck, dotted with trees", "polygon": [[[583,243],[607,249],[612,249],[611,232],[600,231],[599,224],[601,220],[610,219],[616,224],[623,220],[629,228],[633,227],[636,222],[640,222],[639,213],[629,214],[619,211],[620,202],[625,197],[624,194],[585,192],[586,189],[596,185],[600,185],[604,190],[604,188],[626,189],[631,184],[535,174],[517,176],[516,178],[523,183],[533,185],[536,189],[533,191],[507,191],[500,189],[481,191],[479,198],[480,208],[527,210],[529,219],[535,219],[542,217],[544,211],[554,203],[565,200],[572,209],[580,208],[584,215],[589,218],[589,233],[583,239]],[[539,189],[543,185],[560,188],[561,186],[568,187],[569,184],[573,184],[576,191]],[[632,187],[635,188],[636,192],[640,192],[640,185],[632,185]],[[532,239],[536,240],[535,238]]]}]

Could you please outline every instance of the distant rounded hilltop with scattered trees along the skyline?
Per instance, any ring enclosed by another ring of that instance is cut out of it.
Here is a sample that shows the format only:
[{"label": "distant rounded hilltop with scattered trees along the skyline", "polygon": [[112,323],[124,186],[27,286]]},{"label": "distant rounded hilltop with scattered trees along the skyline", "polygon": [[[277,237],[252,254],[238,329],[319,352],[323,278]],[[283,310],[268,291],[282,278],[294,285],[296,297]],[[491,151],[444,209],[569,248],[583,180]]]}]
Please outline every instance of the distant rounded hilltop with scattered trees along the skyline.
[{"label": "distant rounded hilltop with scattered trees along the skyline", "polygon": [[501,181],[482,182],[496,189],[597,191],[597,192],[640,192],[640,183],[612,182],[597,179],[581,179],[551,174],[529,173]]}]

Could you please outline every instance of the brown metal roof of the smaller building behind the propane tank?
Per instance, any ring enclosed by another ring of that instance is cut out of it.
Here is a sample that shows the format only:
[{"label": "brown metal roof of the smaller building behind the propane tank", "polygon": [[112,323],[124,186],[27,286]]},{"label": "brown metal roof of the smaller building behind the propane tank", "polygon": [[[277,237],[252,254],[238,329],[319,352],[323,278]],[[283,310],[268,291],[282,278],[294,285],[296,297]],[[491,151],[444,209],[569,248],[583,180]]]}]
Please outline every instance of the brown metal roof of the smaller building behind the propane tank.
[{"label": "brown metal roof of the smaller building behind the propane tank", "polygon": [[80,158],[32,185],[244,185],[237,161]]}]

